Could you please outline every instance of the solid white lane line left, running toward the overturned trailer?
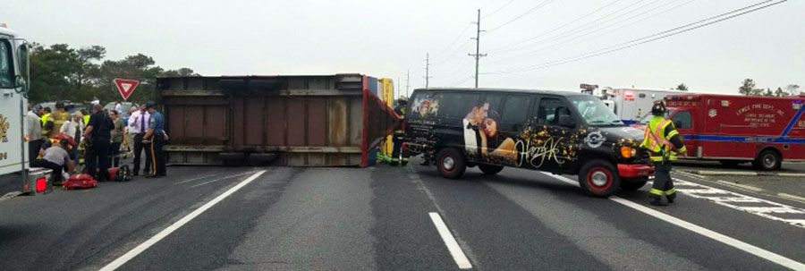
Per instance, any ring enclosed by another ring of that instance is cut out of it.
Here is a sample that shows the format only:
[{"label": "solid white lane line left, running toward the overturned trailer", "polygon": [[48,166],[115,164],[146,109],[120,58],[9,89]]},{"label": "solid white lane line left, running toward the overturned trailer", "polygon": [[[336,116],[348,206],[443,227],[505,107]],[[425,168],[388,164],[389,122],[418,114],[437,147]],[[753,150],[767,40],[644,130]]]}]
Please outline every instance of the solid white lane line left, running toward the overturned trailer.
[{"label": "solid white lane line left, running toward the overturned trailer", "polygon": [[129,252],[126,252],[126,254],[123,254],[123,256],[121,256],[120,258],[114,259],[114,261],[112,261],[111,263],[106,265],[106,267],[100,268],[100,271],[112,271],[114,269],[117,269],[117,268],[123,266],[123,264],[125,264],[126,262],[131,260],[131,258],[137,257],[137,255],[140,255],[140,253],[142,253],[142,251],[148,250],[148,248],[150,248],[151,246],[156,244],[157,241],[160,241],[163,238],[165,238],[166,236],[168,236],[169,234],[174,233],[174,231],[176,231],[177,229],[182,227],[182,225],[187,224],[188,222],[193,220],[193,218],[196,218],[196,216],[201,215],[202,213],[204,213],[204,211],[207,211],[210,207],[215,206],[218,202],[220,202],[221,200],[226,199],[227,197],[232,195],[234,192],[241,190],[241,188],[243,188],[243,186],[246,186],[246,184],[249,184],[251,181],[254,181],[255,179],[257,179],[260,175],[262,175],[264,173],[266,173],[265,170],[251,175],[246,180],[243,180],[243,182],[238,183],[233,188],[229,189],[228,191],[225,191],[221,195],[218,195],[218,197],[216,197],[216,199],[210,200],[207,204],[199,207],[198,209],[196,209],[192,213],[188,214],[187,216],[182,217],[182,219],[179,219],[179,221],[176,221],[174,224],[171,224],[170,226],[166,227],[165,230],[162,230],[162,232],[157,233],[157,235],[154,235],[150,239],[142,242],[140,245],[138,245],[134,249],[129,250]]}]

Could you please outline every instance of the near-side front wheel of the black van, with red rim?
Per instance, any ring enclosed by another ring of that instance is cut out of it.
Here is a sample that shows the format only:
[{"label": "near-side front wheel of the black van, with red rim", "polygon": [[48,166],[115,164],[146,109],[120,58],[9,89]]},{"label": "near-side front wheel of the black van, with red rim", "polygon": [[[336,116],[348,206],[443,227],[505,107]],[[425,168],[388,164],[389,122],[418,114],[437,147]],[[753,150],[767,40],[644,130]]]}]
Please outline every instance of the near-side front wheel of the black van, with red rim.
[{"label": "near-side front wheel of the black van, with red rim", "polygon": [[589,195],[606,198],[621,188],[621,176],[612,163],[592,160],[581,166],[579,184]]}]

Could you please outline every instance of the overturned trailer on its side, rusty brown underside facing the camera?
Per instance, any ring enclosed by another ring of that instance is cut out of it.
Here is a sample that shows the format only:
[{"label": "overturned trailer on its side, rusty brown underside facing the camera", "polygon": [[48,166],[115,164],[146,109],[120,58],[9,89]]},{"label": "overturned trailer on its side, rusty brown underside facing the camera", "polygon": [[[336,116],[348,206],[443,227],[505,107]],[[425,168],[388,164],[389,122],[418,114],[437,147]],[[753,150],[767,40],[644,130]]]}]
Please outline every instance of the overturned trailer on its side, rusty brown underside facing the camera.
[{"label": "overturned trailer on its side, rusty brown underside facing the camera", "polygon": [[361,74],[158,78],[167,162],[374,165],[400,123],[377,85]]}]

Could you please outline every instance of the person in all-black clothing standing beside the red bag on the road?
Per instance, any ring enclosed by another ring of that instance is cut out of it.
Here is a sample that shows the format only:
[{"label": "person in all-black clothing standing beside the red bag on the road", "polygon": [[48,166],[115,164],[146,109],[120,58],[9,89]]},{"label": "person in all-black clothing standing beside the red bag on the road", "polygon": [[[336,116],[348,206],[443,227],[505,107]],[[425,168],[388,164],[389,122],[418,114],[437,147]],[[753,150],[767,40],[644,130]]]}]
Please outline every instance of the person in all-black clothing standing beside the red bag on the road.
[{"label": "person in all-black clothing standing beside the red bag on the road", "polygon": [[99,104],[92,106],[92,115],[89,124],[84,130],[84,140],[89,140],[90,146],[86,153],[87,174],[98,182],[109,179],[109,149],[112,144],[111,131],[114,123],[108,115],[104,114],[104,107]]}]

